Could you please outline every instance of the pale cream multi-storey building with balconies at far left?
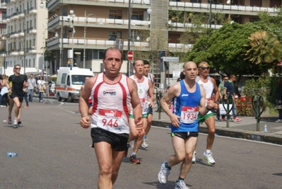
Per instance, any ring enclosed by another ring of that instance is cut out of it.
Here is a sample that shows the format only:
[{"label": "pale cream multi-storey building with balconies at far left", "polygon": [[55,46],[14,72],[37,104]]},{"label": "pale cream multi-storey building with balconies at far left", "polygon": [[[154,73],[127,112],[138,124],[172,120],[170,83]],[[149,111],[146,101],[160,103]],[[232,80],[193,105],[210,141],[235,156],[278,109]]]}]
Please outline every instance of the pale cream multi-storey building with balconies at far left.
[{"label": "pale cream multi-storey building with balconies at far left", "polygon": [[[5,53],[1,54],[6,67],[20,64],[22,72],[46,69],[43,61],[47,38],[47,8],[40,8],[37,0],[6,0]],[[4,38],[3,38],[4,37]],[[2,70],[2,72],[4,72]],[[13,73],[9,69],[8,73]]]}]

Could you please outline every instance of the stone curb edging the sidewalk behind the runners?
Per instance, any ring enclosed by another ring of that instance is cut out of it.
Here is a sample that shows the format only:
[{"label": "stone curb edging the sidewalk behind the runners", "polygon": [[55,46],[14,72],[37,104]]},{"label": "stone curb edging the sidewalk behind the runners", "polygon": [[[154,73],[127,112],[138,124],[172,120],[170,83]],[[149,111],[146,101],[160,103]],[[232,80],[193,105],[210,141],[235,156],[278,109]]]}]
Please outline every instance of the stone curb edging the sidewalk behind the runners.
[{"label": "stone curb edging the sidewalk behind the runners", "polygon": [[[157,127],[170,127],[170,122],[162,121],[162,120],[153,120],[152,125]],[[208,129],[204,126],[199,127],[199,132],[208,134]],[[219,127],[216,128],[216,134],[220,136],[225,137],[233,137],[233,138],[239,138],[239,139],[249,139],[249,140],[255,140],[259,142],[269,142],[273,144],[280,144],[282,145],[282,137],[277,137],[275,134],[269,134],[269,133],[254,133],[250,131],[245,130],[235,130],[225,127]]]}]

